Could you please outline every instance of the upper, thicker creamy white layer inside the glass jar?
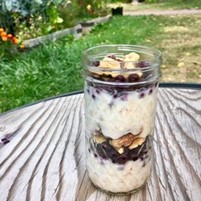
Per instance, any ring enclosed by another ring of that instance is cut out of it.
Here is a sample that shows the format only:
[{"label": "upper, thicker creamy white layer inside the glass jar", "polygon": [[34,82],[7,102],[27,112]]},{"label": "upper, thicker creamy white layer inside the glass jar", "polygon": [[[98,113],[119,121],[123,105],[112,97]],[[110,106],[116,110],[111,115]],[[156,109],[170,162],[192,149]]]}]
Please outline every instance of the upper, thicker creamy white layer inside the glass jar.
[{"label": "upper, thicker creamy white layer inside the glass jar", "polygon": [[[104,136],[112,139],[127,133],[141,133],[140,137],[146,138],[153,133],[156,88],[126,93],[114,98],[107,90],[97,92],[92,86],[88,88],[85,92],[87,136],[96,130],[101,130]],[[142,93],[144,96],[140,97]]]}]

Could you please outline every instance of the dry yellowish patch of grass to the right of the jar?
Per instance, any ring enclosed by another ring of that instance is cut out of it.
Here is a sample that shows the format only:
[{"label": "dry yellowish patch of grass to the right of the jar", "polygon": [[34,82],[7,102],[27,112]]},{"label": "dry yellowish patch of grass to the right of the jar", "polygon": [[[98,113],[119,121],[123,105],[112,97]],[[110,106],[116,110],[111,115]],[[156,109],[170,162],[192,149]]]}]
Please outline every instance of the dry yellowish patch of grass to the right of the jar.
[{"label": "dry yellowish patch of grass to the right of the jar", "polygon": [[162,80],[200,82],[201,27],[197,24],[201,23],[201,15],[166,20],[162,35],[156,37],[163,49]]}]

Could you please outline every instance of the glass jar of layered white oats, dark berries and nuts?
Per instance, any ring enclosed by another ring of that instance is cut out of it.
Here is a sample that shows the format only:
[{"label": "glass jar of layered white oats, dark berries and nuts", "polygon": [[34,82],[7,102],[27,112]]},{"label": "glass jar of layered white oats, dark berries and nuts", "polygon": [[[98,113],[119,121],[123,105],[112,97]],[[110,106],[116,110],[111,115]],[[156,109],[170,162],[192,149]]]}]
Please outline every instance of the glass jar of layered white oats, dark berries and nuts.
[{"label": "glass jar of layered white oats, dark berries and nuts", "polygon": [[109,193],[132,193],[150,175],[161,53],[106,45],[83,55],[87,171]]}]

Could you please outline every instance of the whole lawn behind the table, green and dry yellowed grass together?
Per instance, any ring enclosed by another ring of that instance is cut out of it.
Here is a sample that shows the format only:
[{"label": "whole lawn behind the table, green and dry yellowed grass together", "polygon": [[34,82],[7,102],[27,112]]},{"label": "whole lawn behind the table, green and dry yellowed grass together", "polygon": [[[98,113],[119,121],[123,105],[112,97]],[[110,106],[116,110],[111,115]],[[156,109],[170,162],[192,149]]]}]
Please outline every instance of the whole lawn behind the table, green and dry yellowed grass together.
[{"label": "whole lawn behind the table, green and dry yellowed grass together", "polygon": [[140,44],[163,52],[162,81],[201,81],[201,15],[119,16],[79,40],[71,37],[0,62],[0,112],[83,89],[81,54],[98,44]]}]

